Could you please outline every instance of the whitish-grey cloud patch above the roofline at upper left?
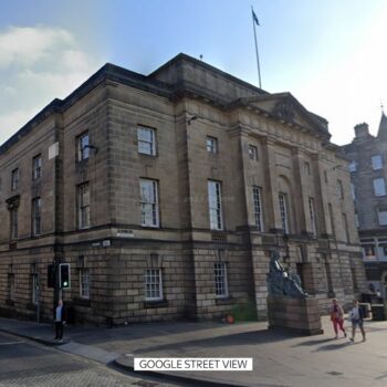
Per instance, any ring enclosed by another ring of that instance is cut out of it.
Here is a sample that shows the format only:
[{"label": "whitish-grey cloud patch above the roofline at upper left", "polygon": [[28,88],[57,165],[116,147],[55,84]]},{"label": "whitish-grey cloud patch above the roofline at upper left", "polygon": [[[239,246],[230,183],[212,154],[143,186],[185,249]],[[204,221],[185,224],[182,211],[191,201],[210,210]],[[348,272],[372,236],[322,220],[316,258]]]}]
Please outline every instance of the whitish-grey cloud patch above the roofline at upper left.
[{"label": "whitish-grey cloud patch above the roofline at upper left", "polygon": [[0,144],[53,98],[63,98],[101,66],[60,28],[0,30]]}]

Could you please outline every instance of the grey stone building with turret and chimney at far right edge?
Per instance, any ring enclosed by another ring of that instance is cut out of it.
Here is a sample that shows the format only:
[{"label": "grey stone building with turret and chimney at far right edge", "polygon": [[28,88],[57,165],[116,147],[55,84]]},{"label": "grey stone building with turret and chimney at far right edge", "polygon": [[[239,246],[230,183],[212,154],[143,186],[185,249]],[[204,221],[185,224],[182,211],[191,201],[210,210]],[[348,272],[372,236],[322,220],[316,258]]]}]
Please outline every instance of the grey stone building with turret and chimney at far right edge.
[{"label": "grey stone building with turret and chimney at far right edge", "polygon": [[381,113],[377,136],[367,124],[355,126],[355,138],[343,147],[351,160],[352,195],[369,290],[387,287],[387,117]]}]

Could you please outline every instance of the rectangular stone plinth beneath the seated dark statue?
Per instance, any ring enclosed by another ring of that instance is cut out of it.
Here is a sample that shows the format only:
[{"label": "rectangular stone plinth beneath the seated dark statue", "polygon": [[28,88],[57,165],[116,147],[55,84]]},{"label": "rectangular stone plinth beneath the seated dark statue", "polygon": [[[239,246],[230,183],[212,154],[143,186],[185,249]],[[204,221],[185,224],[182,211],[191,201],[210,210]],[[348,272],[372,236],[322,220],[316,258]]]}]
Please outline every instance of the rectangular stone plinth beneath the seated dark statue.
[{"label": "rectangular stone plinth beneath the seated dark statue", "polygon": [[285,328],[302,335],[324,333],[315,299],[268,296],[269,330]]}]

